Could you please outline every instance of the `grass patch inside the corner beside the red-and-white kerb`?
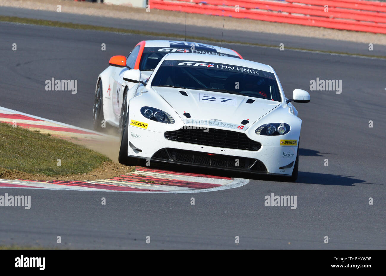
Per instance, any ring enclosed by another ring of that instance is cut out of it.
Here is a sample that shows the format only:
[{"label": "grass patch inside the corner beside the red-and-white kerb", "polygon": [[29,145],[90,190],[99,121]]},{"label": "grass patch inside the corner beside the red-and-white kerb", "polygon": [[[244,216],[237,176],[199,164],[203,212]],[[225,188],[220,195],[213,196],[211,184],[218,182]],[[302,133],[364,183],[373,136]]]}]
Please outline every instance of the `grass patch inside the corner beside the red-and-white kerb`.
[{"label": "grass patch inside the corner beside the red-and-white kerb", "polygon": [[84,146],[6,123],[0,123],[0,141],[0,176],[7,170],[72,175],[90,172],[111,161]]}]

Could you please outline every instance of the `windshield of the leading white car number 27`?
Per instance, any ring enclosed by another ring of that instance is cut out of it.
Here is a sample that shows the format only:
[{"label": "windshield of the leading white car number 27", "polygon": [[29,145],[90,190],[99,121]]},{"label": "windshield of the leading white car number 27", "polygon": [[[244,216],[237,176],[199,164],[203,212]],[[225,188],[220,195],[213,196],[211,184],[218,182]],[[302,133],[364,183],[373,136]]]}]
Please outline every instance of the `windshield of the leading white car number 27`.
[{"label": "windshield of the leading white car number 27", "polygon": [[281,101],[272,72],[221,63],[164,61],[152,86],[218,91]]}]

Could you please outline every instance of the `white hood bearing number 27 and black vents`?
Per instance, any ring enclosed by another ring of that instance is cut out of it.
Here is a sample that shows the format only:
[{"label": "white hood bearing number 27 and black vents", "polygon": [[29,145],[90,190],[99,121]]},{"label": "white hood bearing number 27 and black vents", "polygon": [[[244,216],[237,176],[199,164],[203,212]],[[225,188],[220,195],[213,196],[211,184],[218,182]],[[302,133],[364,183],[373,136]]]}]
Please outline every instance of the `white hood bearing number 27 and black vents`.
[{"label": "white hood bearing number 27 and black vents", "polygon": [[[213,91],[169,87],[152,89],[176,111],[185,125],[240,132],[247,130],[259,118],[281,104],[278,101]],[[191,117],[187,118],[184,113],[189,113]]]}]

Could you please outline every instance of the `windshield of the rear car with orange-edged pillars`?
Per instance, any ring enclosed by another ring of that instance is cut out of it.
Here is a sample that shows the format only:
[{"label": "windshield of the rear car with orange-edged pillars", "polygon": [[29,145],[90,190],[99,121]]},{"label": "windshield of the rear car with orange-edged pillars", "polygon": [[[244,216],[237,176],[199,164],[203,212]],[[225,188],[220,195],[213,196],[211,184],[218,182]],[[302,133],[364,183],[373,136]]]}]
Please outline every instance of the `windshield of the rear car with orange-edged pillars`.
[{"label": "windshield of the rear car with orange-edged pillars", "polygon": [[[191,43],[191,42],[185,42]],[[188,44],[190,45],[190,44]],[[239,56],[229,55],[218,53],[214,49],[208,49],[207,47],[196,46],[194,50],[191,49],[191,46],[178,45],[179,48],[168,48],[168,47],[145,47],[141,56],[141,61],[139,62],[139,70],[141,71],[153,71],[156,69],[158,63],[161,59],[169,53],[193,53],[193,54],[208,54],[215,56],[229,56],[240,58]]]}]

